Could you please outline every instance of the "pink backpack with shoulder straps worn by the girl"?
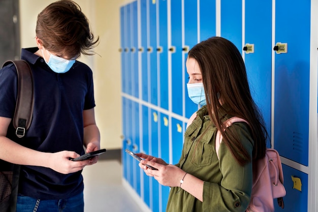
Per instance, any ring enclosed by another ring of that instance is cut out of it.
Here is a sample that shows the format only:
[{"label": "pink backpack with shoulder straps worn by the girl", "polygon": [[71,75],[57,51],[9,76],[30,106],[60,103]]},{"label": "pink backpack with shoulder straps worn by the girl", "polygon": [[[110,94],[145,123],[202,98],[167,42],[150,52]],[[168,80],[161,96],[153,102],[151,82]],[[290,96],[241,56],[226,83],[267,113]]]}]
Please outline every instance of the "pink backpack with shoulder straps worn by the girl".
[{"label": "pink backpack with shoulder straps worn by the girl", "polygon": [[[246,120],[234,116],[226,120],[224,124],[229,127],[235,122],[247,123]],[[217,158],[219,157],[218,149],[221,141],[221,134],[217,132],[215,139]],[[246,212],[273,212],[273,199],[275,198],[277,198],[278,205],[284,208],[282,197],[285,195],[279,154],[275,149],[267,148],[265,157],[253,163],[252,193]]]}]

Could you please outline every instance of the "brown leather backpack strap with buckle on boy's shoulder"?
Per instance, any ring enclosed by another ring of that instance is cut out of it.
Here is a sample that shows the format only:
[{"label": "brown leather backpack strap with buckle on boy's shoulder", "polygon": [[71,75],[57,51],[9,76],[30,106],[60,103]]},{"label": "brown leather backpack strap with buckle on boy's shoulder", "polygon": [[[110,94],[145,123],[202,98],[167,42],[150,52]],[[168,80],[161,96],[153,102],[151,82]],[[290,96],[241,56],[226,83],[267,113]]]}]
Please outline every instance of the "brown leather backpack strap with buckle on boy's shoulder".
[{"label": "brown leather backpack strap with buckle on boy's shoulder", "polygon": [[18,74],[18,96],[13,117],[13,127],[16,129],[17,137],[22,138],[31,125],[33,115],[33,75],[30,66],[25,60],[8,60],[3,67],[11,63],[15,65]]}]

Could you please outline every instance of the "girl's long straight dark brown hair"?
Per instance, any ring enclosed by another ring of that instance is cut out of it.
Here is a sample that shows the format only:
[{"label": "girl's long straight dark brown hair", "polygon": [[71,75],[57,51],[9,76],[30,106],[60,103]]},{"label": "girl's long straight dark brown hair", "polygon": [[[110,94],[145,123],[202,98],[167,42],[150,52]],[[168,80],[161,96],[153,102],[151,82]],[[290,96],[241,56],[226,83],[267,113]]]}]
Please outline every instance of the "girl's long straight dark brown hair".
[{"label": "girl's long straight dark brown hair", "polygon": [[[208,113],[223,137],[222,142],[229,147],[240,165],[263,158],[268,134],[264,119],[251,97],[245,64],[239,50],[225,38],[212,37],[190,49],[188,57],[196,59],[200,66]],[[222,103],[231,108],[230,111],[222,108],[217,93],[220,93]],[[221,130],[224,128],[219,117],[221,112],[243,118],[249,123],[254,141],[252,159],[231,128]]]}]

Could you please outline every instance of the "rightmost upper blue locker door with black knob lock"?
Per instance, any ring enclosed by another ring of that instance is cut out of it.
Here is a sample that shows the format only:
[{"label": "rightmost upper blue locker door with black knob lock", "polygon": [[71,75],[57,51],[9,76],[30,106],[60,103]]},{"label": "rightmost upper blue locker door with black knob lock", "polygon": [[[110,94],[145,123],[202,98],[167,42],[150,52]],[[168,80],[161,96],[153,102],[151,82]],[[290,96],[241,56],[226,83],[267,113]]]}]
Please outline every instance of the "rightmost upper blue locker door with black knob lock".
[{"label": "rightmost upper blue locker door with black knob lock", "polygon": [[275,44],[288,46],[275,53],[274,147],[308,166],[310,1],[276,1],[275,9]]}]

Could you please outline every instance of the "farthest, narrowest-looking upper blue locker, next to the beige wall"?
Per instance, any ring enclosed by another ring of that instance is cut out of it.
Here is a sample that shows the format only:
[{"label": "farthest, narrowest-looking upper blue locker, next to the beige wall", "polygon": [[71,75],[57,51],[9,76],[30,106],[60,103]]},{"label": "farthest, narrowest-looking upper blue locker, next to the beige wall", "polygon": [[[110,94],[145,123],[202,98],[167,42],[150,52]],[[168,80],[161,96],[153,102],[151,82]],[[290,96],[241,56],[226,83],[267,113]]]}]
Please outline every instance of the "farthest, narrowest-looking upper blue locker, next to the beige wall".
[{"label": "farthest, narrowest-looking upper blue locker, next to the beige wall", "polygon": [[125,27],[125,7],[120,7],[120,57],[121,57],[121,91],[126,93],[126,74],[125,74],[125,64],[126,64],[126,54],[125,54],[125,35],[126,35],[126,27]]}]

